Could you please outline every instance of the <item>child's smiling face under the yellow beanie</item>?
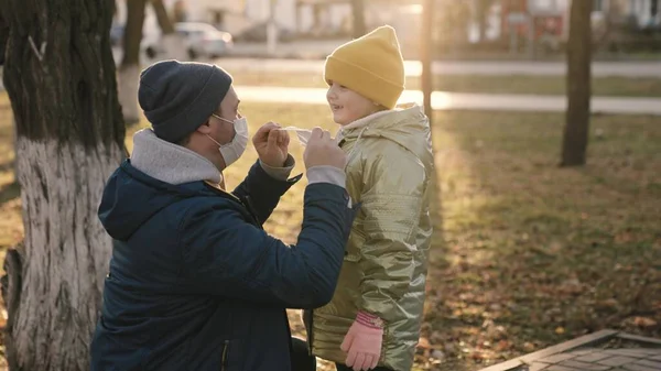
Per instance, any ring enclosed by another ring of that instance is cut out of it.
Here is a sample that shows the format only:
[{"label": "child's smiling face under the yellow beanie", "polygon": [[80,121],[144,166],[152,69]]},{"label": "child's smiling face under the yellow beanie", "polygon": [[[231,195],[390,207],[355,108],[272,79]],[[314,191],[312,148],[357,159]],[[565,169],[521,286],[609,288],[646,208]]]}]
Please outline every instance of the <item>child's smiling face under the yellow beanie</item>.
[{"label": "child's smiling face under the yellow beanie", "polygon": [[328,84],[326,100],[336,123],[346,126],[379,110],[378,105],[358,92],[335,81],[328,81]]}]

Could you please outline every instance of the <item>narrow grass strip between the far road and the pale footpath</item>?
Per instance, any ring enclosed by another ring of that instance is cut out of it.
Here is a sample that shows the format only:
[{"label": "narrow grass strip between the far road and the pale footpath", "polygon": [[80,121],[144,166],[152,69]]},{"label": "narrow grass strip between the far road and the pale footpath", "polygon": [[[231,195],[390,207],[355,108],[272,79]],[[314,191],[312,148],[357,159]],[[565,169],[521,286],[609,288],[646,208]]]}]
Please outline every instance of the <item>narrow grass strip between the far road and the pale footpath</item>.
[{"label": "narrow grass strip between the far road and the pale footpath", "polygon": [[[321,74],[235,74],[237,85],[317,87],[326,84]],[[565,95],[564,76],[434,76],[434,89],[454,92]],[[407,78],[408,89],[420,89],[419,77]],[[593,95],[661,97],[661,78],[596,77]]]}]

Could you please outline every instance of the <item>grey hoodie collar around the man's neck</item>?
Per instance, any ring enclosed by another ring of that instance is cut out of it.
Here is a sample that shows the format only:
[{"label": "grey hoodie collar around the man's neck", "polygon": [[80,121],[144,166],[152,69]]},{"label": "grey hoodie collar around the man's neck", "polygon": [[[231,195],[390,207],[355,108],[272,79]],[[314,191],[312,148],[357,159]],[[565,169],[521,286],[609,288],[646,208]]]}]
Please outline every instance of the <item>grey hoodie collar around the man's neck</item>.
[{"label": "grey hoodie collar around the man's neck", "polygon": [[202,155],[162,139],[151,129],[133,135],[131,165],[144,174],[170,184],[208,181],[219,184],[223,175]]}]

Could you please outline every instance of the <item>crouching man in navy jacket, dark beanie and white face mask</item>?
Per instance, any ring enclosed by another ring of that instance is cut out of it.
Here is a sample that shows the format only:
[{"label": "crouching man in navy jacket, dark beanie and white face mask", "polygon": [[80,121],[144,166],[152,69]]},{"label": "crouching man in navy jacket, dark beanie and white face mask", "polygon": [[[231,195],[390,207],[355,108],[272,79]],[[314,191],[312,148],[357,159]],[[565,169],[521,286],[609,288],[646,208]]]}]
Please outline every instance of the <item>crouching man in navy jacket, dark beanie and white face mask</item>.
[{"label": "crouching man in navy jacket, dark beanie and white face mask", "polygon": [[307,361],[297,361],[285,308],[333,296],[355,216],[343,151],[313,130],[303,225],[290,247],[261,228],[300,178],[288,179],[294,160],[278,124],[258,130],[259,161],[224,189],[221,171],[248,141],[226,72],[156,63],[140,76],[139,101],[153,130],[134,135],[99,206],[115,245],[91,370],[300,368]]}]

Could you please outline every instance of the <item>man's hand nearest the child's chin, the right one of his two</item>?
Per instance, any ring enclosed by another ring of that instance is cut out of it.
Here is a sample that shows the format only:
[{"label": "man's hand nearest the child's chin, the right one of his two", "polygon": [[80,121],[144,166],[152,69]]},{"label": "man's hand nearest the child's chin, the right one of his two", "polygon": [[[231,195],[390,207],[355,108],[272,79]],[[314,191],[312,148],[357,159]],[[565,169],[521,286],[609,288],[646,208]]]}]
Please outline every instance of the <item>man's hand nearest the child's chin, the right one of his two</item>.
[{"label": "man's hand nearest the child's chin, the right one of his two", "polygon": [[347,156],[333,138],[330,138],[329,132],[314,128],[307,140],[303,161],[305,162],[305,168],[325,165],[344,171],[347,164]]}]

